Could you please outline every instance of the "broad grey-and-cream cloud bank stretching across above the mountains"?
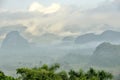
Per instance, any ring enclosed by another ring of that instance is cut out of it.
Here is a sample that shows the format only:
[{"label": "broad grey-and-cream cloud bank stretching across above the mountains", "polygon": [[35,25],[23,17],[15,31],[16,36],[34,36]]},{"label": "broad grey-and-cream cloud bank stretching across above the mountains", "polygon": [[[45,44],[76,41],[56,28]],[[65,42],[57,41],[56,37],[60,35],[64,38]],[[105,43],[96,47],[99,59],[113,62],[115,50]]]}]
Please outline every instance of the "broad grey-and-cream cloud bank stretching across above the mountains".
[{"label": "broad grey-and-cream cloud bank stretching across above the mountains", "polygon": [[[100,33],[108,29],[119,30],[119,9],[117,11],[111,8],[119,7],[118,4],[120,4],[118,0],[104,2],[102,5],[106,6],[105,10],[102,10],[104,8],[100,5],[95,9],[82,12],[78,7],[59,4],[46,7],[36,2],[30,6],[29,12],[1,13],[0,25],[23,24],[27,26],[24,34],[30,38],[45,33],[69,36],[88,32]],[[59,8],[55,7],[57,5]]]}]

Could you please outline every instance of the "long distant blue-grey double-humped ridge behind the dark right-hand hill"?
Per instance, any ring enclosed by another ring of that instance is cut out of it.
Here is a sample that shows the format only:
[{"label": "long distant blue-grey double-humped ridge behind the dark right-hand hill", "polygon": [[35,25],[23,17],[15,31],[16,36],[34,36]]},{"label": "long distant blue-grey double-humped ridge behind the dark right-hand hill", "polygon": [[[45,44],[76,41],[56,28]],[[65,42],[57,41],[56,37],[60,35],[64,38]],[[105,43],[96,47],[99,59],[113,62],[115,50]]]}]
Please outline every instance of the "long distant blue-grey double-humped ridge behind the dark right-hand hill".
[{"label": "long distant blue-grey double-humped ridge behind the dark right-hand hill", "polygon": [[107,30],[103,33],[96,35],[94,33],[88,33],[78,36],[75,40],[77,44],[84,44],[90,42],[117,42],[120,41],[120,32]]}]

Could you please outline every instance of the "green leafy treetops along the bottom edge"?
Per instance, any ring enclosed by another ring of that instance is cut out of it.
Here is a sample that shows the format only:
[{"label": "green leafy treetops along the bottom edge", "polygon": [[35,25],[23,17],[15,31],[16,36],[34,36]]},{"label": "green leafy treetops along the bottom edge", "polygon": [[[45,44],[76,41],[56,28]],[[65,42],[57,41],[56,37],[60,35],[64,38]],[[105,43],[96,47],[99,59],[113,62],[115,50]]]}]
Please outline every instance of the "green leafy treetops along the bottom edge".
[{"label": "green leafy treetops along the bottom edge", "polygon": [[93,68],[86,72],[83,70],[66,72],[58,70],[59,68],[59,64],[52,66],[44,64],[39,68],[19,68],[16,79],[0,71],[0,80],[112,80],[113,78],[111,73],[103,70],[96,71]]}]

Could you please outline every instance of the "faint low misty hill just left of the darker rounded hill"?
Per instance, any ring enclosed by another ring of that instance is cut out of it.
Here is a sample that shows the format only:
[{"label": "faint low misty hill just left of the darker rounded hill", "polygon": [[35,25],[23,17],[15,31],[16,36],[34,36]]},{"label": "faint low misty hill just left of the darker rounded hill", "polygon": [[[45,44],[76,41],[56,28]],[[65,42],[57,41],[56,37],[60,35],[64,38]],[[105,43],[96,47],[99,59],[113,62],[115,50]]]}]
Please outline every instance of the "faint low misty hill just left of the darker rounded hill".
[{"label": "faint low misty hill just left of the darker rounded hill", "polygon": [[77,67],[85,68],[86,64],[89,62],[89,59],[90,55],[68,53],[63,57],[59,58],[57,62],[62,65],[62,68],[69,70],[76,69]]}]

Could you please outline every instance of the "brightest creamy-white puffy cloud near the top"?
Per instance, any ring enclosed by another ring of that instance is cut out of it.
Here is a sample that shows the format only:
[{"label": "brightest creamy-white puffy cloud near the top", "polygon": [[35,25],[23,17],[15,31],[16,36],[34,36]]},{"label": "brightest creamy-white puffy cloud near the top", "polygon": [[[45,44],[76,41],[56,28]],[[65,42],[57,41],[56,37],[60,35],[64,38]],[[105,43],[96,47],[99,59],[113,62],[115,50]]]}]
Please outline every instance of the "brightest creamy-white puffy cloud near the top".
[{"label": "brightest creamy-white puffy cloud near the top", "polygon": [[33,2],[29,7],[29,11],[30,12],[37,11],[43,14],[51,14],[57,12],[60,8],[61,6],[57,3],[53,3],[51,4],[51,6],[46,7],[38,2]]}]

